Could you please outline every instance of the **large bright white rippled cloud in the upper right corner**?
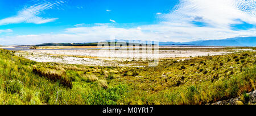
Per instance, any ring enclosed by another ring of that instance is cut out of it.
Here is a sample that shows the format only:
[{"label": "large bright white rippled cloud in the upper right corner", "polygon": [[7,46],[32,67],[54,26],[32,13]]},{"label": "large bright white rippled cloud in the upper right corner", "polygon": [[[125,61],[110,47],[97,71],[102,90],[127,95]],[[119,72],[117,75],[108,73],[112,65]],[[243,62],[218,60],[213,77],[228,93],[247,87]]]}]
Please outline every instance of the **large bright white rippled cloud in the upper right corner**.
[{"label": "large bright white rippled cloud in the upper right corner", "polygon": [[197,18],[216,28],[229,28],[243,22],[256,24],[255,0],[180,0],[170,14],[163,16],[170,22],[192,22]]}]

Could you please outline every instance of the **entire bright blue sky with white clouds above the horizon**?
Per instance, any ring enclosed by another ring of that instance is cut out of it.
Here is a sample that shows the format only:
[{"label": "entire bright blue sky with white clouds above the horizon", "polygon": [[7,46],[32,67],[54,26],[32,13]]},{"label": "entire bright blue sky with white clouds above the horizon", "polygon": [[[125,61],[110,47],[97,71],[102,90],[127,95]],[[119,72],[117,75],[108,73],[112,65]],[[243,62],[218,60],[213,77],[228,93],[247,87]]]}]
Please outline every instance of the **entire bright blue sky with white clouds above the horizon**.
[{"label": "entire bright blue sky with white clouds above the horizon", "polygon": [[256,36],[256,0],[1,0],[0,44]]}]

